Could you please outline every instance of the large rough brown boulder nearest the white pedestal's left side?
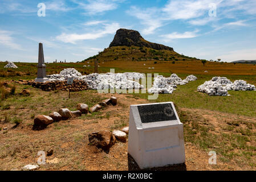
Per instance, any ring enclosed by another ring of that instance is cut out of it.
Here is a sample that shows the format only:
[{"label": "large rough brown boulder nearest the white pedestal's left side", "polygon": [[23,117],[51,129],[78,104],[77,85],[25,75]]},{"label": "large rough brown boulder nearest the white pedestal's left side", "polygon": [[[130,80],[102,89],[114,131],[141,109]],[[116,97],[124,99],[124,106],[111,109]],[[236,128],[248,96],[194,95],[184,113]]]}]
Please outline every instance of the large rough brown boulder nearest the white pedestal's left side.
[{"label": "large rough brown boulder nearest the white pedestal's left side", "polygon": [[109,148],[116,142],[116,138],[110,131],[99,131],[88,135],[90,144],[102,148],[108,152]]}]

